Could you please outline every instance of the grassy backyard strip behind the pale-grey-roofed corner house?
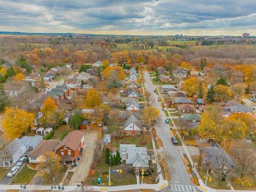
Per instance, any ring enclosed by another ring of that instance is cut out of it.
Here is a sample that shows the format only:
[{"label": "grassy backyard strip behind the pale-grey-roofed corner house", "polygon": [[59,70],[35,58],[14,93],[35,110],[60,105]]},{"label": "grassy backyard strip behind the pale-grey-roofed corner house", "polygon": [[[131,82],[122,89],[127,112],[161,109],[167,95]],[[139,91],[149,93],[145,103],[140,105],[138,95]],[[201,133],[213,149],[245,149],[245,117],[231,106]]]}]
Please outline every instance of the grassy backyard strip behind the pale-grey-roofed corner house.
[{"label": "grassy backyard strip behind the pale-grey-roofed corner house", "polygon": [[124,137],[121,139],[115,139],[113,141],[113,146],[118,148],[120,144],[124,144],[124,143],[136,144],[136,146],[147,147],[147,150],[153,150],[153,144],[152,144],[150,132],[144,133],[144,136],[126,136],[125,139]]}]

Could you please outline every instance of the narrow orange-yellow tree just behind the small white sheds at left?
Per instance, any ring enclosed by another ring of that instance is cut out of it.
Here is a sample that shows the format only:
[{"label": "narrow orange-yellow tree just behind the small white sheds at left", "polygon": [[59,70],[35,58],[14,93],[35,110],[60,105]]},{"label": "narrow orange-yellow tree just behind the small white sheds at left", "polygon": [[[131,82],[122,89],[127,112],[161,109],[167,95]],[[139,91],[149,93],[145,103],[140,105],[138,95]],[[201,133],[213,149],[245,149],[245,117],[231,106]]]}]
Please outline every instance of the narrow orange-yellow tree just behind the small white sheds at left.
[{"label": "narrow orange-yellow tree just behind the small white sheds at left", "polygon": [[41,123],[44,124],[45,126],[48,125],[48,123],[50,123],[54,112],[57,110],[57,105],[55,104],[55,101],[51,98],[48,97],[43,105],[42,105],[42,117],[41,117]]}]

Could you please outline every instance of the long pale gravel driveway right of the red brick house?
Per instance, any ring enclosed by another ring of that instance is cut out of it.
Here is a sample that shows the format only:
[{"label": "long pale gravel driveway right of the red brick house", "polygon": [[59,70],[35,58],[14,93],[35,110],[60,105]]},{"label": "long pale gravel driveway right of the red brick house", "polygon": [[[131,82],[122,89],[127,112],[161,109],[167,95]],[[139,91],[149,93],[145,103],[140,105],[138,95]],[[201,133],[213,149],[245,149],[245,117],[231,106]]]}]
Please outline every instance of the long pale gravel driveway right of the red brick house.
[{"label": "long pale gravel driveway right of the red brick house", "polygon": [[80,184],[89,176],[90,166],[93,161],[93,154],[98,140],[99,129],[89,129],[86,130],[86,136],[84,138],[84,144],[86,148],[81,156],[81,160],[77,165],[77,168],[70,180],[70,185]]}]

